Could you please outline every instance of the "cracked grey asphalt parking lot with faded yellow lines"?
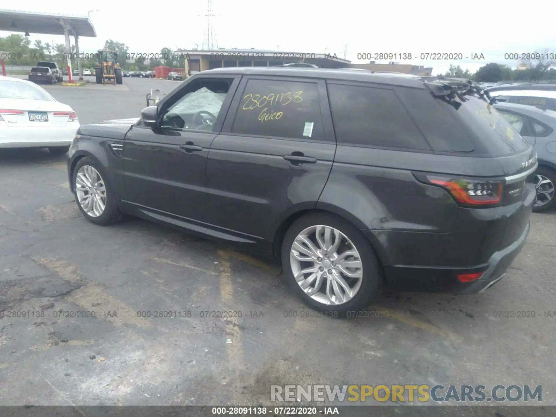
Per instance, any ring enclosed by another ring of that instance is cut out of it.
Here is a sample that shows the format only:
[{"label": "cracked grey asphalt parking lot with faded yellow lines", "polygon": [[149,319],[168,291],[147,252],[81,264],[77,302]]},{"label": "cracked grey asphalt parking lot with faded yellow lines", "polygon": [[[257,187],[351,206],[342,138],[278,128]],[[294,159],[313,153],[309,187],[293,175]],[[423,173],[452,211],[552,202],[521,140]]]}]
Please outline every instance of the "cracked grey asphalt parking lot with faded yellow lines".
[{"label": "cracked grey asphalt parking lot with faded yellow lines", "polygon": [[[44,86],[82,125],[138,117],[151,88],[179,83],[85,78]],[[388,292],[334,319],[275,262],[143,220],[87,222],[67,181],[65,155],[0,150],[2,405],[269,404],[287,384],[542,385],[556,405],[556,213],[532,216],[484,294]]]}]

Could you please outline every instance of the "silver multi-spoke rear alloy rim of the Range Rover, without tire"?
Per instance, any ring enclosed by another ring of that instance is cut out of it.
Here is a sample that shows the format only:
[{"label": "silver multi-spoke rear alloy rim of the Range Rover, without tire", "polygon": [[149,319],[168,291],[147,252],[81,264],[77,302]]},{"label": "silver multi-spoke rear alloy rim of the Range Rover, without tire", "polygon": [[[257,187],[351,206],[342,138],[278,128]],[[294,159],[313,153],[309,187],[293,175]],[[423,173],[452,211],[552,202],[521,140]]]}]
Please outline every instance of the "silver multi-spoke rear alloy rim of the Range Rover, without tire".
[{"label": "silver multi-spoke rear alloy rim of the Range Rover, without tire", "polygon": [[311,226],[297,235],[291,245],[290,265],[305,294],[325,305],[344,304],[361,287],[363,262],[359,252],[334,227]]}]

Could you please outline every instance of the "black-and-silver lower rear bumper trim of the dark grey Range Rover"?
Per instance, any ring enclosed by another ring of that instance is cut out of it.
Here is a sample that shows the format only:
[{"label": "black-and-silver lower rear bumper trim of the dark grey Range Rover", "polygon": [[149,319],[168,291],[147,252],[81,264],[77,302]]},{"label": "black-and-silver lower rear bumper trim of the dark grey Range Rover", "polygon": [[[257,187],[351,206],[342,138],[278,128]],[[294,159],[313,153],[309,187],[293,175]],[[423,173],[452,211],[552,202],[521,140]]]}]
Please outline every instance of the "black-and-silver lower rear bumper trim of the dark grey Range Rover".
[{"label": "black-and-silver lower rear bumper trim of the dark grey Range Rover", "polygon": [[[450,294],[476,294],[499,281],[522,250],[529,234],[529,222],[521,236],[513,244],[494,252],[488,262],[471,267],[391,265],[384,266],[388,286],[400,291],[445,292]],[[463,283],[459,274],[483,272],[475,282]]]}]

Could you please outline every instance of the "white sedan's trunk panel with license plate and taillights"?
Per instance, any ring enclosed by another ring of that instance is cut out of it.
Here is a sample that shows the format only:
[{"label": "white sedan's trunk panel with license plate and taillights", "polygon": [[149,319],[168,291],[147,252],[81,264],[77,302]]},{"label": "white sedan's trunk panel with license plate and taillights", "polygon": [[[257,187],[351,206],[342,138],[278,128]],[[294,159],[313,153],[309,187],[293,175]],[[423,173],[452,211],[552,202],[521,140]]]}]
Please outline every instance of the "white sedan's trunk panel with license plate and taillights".
[{"label": "white sedan's trunk panel with license plate and taillights", "polygon": [[8,127],[66,127],[74,115],[56,101],[0,98],[0,117]]}]

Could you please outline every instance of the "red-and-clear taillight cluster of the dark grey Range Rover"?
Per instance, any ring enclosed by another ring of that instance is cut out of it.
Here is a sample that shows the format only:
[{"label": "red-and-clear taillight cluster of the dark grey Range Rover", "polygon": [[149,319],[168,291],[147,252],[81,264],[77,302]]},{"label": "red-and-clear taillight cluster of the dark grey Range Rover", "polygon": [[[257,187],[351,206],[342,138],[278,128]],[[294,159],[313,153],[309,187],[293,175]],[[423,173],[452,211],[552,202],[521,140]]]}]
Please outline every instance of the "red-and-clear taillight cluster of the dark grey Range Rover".
[{"label": "red-and-clear taillight cluster of the dark grey Range Rover", "polygon": [[455,200],[464,206],[494,206],[502,201],[504,180],[471,180],[470,178],[450,178],[436,175],[419,176],[426,182],[449,191]]}]

